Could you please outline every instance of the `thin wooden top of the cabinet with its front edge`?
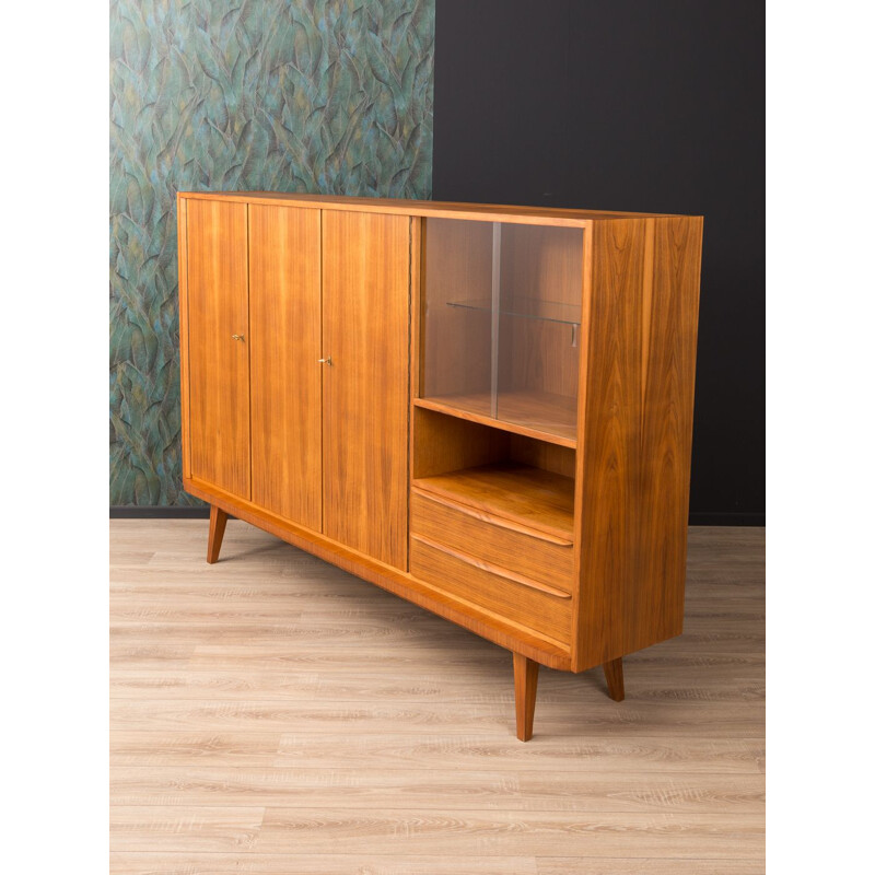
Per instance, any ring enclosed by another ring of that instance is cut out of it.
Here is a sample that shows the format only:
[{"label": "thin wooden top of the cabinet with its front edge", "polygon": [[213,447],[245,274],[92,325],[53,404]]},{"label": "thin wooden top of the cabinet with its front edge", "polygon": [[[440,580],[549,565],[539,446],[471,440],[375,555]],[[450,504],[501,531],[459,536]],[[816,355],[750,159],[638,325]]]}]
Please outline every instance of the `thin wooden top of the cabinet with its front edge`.
[{"label": "thin wooden top of the cabinet with its front edge", "polygon": [[233,200],[311,209],[343,209],[357,212],[400,213],[405,215],[481,219],[508,219],[538,224],[586,225],[593,221],[667,217],[670,213],[571,210],[555,207],[518,207],[501,203],[465,203],[439,200],[400,200],[394,198],[352,198],[339,195],[304,195],[292,191],[179,191],[179,198]]}]

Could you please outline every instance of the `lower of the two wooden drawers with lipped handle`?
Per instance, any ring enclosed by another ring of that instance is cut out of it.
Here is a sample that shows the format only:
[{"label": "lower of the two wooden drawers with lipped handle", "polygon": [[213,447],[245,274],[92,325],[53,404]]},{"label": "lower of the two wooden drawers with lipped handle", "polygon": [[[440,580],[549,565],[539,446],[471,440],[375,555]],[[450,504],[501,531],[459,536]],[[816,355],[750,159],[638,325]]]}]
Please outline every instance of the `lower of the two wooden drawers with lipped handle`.
[{"label": "lower of the two wooden drawers with lipped handle", "polygon": [[415,578],[563,644],[571,641],[570,595],[548,592],[552,587],[546,585],[536,590],[518,579],[492,573],[483,564],[422,536],[410,538],[410,573]]}]

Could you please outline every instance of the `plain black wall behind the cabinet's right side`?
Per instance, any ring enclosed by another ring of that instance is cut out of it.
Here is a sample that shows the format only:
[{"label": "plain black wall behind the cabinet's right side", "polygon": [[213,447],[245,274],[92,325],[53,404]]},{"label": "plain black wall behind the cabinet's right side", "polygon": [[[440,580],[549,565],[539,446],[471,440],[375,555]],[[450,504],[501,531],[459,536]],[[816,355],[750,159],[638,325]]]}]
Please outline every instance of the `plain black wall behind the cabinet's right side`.
[{"label": "plain black wall behind the cabinet's right side", "polygon": [[690,515],[765,522],[765,8],[436,0],[435,200],[704,215]]}]

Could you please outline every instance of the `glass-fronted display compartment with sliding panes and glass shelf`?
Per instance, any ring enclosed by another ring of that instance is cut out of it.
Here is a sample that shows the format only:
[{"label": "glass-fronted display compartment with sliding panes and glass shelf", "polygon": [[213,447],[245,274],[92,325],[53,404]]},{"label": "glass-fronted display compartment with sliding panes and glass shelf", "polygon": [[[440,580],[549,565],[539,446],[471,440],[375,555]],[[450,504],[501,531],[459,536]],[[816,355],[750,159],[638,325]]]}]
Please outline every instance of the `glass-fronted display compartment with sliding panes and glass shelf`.
[{"label": "glass-fronted display compartment with sliding panes and glass shelf", "polygon": [[583,232],[425,221],[421,397],[576,434]]}]

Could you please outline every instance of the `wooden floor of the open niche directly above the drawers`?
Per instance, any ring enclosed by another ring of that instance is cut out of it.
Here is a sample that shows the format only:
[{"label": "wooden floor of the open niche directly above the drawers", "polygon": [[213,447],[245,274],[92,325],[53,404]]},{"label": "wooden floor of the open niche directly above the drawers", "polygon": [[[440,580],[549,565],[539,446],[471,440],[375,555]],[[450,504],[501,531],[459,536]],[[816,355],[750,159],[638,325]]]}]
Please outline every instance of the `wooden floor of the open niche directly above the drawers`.
[{"label": "wooden floor of the open niche directly above the drawers", "polygon": [[512,462],[420,477],[415,489],[572,541],[574,480]]}]

